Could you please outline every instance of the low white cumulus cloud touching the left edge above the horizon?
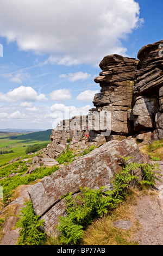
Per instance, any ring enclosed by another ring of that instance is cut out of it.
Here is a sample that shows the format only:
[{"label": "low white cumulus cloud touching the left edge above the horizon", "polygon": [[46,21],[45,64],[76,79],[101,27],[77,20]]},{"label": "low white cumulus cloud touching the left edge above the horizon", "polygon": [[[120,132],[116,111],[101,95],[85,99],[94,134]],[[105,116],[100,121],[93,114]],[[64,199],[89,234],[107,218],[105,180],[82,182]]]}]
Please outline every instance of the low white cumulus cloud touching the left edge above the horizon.
[{"label": "low white cumulus cloud touching the left edge above the horizon", "polygon": [[10,90],[7,94],[0,93],[0,101],[16,102],[16,101],[45,101],[44,94],[37,94],[32,87],[20,86]]}]

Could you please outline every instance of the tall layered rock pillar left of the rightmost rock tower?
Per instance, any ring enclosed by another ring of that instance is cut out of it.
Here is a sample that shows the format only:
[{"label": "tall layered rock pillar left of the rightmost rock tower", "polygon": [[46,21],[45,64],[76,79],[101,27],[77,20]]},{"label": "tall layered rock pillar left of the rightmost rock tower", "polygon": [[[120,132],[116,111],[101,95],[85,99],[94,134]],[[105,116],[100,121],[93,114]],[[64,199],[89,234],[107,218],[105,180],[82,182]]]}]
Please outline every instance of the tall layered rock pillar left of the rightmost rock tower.
[{"label": "tall layered rock pillar left of the rightmost rock tower", "polygon": [[127,111],[133,105],[135,71],[139,60],[118,54],[105,56],[99,64],[103,70],[95,82],[102,87],[95,95],[93,104],[98,111],[111,112],[111,133],[128,135],[133,125],[127,118]]}]

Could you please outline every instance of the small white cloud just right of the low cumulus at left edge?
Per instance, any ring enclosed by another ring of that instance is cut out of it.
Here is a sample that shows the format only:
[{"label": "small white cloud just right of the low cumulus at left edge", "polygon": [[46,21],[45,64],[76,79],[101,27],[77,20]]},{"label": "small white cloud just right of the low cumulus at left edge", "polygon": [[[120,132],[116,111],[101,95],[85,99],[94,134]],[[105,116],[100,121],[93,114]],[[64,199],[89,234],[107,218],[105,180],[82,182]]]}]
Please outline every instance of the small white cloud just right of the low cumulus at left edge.
[{"label": "small white cloud just right of the low cumulus at left edge", "polygon": [[50,94],[50,96],[52,100],[57,100],[57,101],[66,101],[71,99],[71,93],[70,93],[70,90],[68,89],[54,90]]}]

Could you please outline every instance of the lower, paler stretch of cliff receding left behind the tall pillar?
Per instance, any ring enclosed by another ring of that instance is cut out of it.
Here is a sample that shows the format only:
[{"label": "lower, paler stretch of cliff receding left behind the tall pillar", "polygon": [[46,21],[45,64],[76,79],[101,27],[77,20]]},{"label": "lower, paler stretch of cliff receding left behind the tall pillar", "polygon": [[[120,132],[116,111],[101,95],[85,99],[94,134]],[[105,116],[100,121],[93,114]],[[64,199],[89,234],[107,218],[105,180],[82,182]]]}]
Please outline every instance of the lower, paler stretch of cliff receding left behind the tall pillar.
[{"label": "lower, paler stretch of cliff receding left behind the tall pillar", "polygon": [[[105,131],[104,122],[96,119],[96,113],[98,112],[93,112],[93,114],[90,112],[87,115],[61,120],[57,127],[52,130],[52,142],[46,148],[46,155],[56,158],[66,149],[67,145],[70,149],[84,149],[87,147],[87,142],[90,142],[91,145],[105,142],[105,137],[101,134],[102,130]],[[97,130],[100,132],[96,132]]]}]

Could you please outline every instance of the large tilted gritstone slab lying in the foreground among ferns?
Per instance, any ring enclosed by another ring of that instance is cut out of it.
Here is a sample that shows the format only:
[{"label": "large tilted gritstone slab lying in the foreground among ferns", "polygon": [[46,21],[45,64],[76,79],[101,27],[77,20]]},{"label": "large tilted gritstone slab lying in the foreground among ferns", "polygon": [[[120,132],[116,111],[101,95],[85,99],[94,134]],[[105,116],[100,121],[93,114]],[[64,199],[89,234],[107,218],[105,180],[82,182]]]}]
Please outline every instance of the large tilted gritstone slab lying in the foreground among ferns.
[{"label": "large tilted gritstone slab lying in the foreground among ferns", "polygon": [[[57,223],[58,216],[65,214],[64,202],[60,200],[62,195],[78,193],[80,187],[111,188],[111,176],[122,168],[118,162],[120,155],[133,156],[130,161],[143,163],[133,138],[120,142],[110,141],[31,186],[28,192],[34,212],[42,215],[46,222],[45,227],[51,230]],[[140,170],[137,170],[136,175],[141,175]]]}]

